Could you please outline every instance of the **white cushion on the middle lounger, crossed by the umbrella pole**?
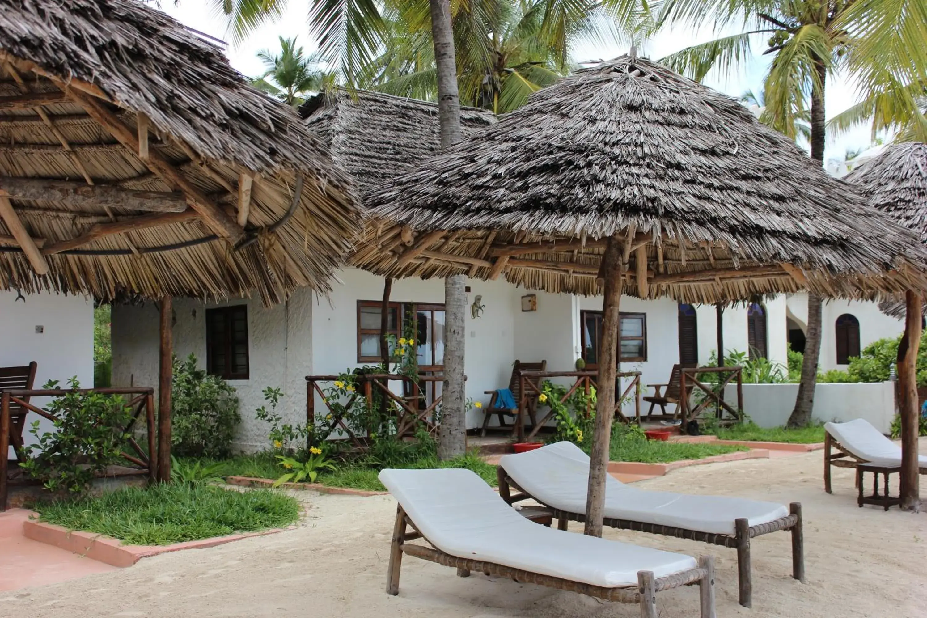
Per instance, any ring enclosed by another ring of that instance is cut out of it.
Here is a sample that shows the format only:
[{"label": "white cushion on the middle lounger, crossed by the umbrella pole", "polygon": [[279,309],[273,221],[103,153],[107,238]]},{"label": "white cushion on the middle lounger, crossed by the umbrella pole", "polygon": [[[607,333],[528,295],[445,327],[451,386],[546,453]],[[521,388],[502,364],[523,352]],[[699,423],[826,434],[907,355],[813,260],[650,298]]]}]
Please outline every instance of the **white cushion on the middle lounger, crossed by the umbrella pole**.
[{"label": "white cushion on the middle lounger, crossed by the umbrella pole", "polygon": [[[560,511],[586,512],[589,456],[572,442],[505,455],[499,464],[540,502]],[[733,535],[735,519],[746,518],[756,525],[788,514],[774,502],[647,491],[625,485],[611,474],[605,476],[605,517]]]}]

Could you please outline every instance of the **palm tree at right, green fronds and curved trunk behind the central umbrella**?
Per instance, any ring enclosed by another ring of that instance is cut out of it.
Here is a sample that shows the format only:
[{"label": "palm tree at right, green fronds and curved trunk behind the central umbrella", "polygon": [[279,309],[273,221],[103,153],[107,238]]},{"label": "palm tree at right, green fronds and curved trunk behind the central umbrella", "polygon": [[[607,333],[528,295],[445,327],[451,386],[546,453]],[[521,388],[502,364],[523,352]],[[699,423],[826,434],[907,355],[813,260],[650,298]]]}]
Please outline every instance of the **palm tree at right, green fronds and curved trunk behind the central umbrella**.
[{"label": "palm tree at right, green fronds and curved trunk behind the central umbrella", "polygon": [[[883,6],[883,14],[891,14],[893,3],[918,4],[897,0],[873,2]],[[856,74],[862,76],[863,87],[870,89],[866,96],[872,101],[870,109],[890,122],[909,122],[911,109],[916,108],[912,107],[911,92],[901,84],[914,83],[927,76],[927,53],[922,49],[899,48],[898,37],[891,41],[895,59],[914,59],[922,64],[915,69],[880,64],[882,52],[873,42],[888,44],[887,40],[896,30],[891,21],[870,19],[860,8],[870,4],[856,3],[854,7],[853,2],[846,0],[715,0],[707,3],[705,0],[669,0],[662,7],[660,25],[685,21],[698,27],[714,22],[717,28],[725,28],[743,22],[744,31],[693,45],[661,62],[692,79],[701,80],[711,69],[730,71],[740,66],[751,56],[753,46],[765,39],[763,54],[772,57],[764,82],[765,120],[769,126],[794,139],[799,134],[799,120],[807,114],[811,158],[823,165],[826,83],[837,69],[857,71]],[[925,27],[921,23],[911,24],[911,28],[912,32],[923,32]],[[905,43],[923,47],[922,38],[920,42],[916,36],[908,36],[908,39]],[[898,64],[903,62],[895,63]],[[811,419],[818,376],[820,320],[821,298],[809,294],[805,361],[798,397],[789,417],[790,426],[805,425]]]}]

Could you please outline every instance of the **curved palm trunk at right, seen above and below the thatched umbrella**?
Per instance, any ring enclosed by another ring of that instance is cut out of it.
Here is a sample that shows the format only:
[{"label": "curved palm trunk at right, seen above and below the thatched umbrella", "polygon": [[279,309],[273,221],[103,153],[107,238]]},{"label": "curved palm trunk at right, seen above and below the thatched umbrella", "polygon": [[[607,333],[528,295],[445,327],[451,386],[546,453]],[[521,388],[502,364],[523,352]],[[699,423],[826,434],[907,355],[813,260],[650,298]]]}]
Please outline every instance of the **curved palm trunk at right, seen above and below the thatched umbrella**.
[{"label": "curved palm trunk at right, seen above and below the thatched umbrella", "polygon": [[[824,164],[824,81],[827,69],[824,63],[815,62],[818,71],[819,88],[811,89],[811,158]],[[811,422],[814,409],[814,391],[818,385],[818,362],[820,359],[821,297],[808,293],[808,328],[805,334],[805,359],[802,361],[802,379],[798,384],[795,407],[789,416],[790,427],[804,427]]]}]

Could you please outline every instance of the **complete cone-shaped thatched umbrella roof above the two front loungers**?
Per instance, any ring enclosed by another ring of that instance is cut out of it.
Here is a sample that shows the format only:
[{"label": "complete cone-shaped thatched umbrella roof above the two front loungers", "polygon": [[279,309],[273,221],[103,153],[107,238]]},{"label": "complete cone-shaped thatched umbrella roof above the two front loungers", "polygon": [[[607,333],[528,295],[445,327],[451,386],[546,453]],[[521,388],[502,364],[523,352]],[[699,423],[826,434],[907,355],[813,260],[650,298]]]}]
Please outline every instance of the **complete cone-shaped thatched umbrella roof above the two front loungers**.
[{"label": "complete cone-shaped thatched umbrella roof above the two front loungers", "polygon": [[579,70],[364,201],[385,223],[355,262],[391,276],[504,271],[592,295],[619,233],[639,296],[925,285],[913,236],[852,185],[734,99],[641,58]]}]

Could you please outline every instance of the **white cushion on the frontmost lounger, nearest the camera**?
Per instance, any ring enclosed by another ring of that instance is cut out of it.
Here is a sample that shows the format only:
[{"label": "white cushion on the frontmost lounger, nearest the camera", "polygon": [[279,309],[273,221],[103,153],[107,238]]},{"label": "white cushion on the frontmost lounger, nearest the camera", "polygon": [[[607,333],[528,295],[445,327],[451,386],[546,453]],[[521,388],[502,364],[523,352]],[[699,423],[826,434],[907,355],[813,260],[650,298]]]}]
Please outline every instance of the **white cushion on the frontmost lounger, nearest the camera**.
[{"label": "white cushion on the frontmost lounger, nearest the camera", "polygon": [[691,556],[553,530],[522,517],[469,470],[384,470],[387,486],[429,543],[458,558],[494,562],[592,586],[637,586],[696,568]]}]

